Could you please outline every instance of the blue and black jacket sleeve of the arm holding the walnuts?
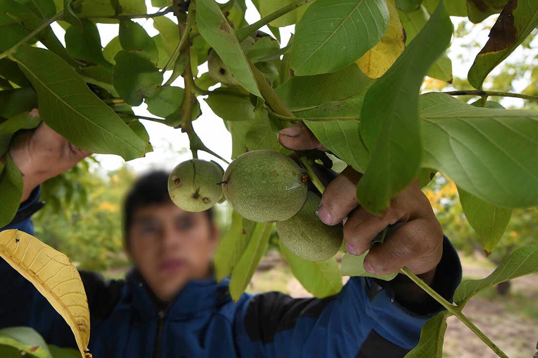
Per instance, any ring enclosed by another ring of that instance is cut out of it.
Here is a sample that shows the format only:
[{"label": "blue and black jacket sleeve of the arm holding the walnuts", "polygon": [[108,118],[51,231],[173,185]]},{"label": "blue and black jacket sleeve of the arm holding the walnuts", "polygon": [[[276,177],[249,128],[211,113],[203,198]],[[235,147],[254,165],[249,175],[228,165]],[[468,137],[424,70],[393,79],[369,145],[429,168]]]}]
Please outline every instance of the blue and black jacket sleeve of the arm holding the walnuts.
[{"label": "blue and black jacket sleeve of the arm holding the walnuts", "polygon": [[[432,287],[450,301],[461,282],[455,248],[444,237],[443,256]],[[409,311],[394,300],[390,285],[351,277],[340,293],[324,299],[267,292],[250,298],[235,322],[241,356],[403,357],[420,338],[429,314]]]}]

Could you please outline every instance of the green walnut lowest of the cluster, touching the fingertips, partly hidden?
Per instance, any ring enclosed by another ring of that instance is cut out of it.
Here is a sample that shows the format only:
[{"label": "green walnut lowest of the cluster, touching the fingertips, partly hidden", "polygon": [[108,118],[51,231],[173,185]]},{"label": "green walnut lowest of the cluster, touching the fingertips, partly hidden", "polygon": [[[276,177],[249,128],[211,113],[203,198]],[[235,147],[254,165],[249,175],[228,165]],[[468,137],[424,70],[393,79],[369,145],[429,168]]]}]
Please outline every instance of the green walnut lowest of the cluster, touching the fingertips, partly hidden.
[{"label": "green walnut lowest of the cluster, touching the fingertips, partly hidden", "polygon": [[328,260],[342,246],[343,225],[329,226],[316,215],[320,197],[309,191],[298,213],[277,223],[277,233],[288,250],[309,261]]}]

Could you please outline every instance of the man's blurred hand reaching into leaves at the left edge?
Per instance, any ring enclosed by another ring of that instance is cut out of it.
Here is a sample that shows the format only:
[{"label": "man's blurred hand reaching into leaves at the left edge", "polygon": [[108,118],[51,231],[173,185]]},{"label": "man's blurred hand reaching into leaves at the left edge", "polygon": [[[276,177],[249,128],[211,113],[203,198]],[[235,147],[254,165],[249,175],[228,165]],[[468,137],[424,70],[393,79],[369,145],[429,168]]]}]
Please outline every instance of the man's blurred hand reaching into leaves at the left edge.
[{"label": "man's blurred hand reaching into leaves at the left edge", "polygon": [[[39,116],[37,109],[30,115]],[[34,188],[49,178],[73,168],[90,155],[70,144],[44,122],[33,132],[24,132],[11,142],[9,153],[23,174],[24,188],[20,202],[24,202]]]}]

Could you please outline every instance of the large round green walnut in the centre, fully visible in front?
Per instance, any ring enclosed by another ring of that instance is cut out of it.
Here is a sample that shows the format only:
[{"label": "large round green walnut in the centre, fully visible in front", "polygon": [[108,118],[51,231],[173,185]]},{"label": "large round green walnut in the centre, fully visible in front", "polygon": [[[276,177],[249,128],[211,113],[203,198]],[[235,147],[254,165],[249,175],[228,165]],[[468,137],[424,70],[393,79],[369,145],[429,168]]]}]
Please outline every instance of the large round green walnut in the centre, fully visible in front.
[{"label": "large round green walnut in the centre, fully visible in front", "polygon": [[222,191],[241,216],[258,223],[286,220],[305,203],[305,170],[269,150],[239,155],[226,169]]}]

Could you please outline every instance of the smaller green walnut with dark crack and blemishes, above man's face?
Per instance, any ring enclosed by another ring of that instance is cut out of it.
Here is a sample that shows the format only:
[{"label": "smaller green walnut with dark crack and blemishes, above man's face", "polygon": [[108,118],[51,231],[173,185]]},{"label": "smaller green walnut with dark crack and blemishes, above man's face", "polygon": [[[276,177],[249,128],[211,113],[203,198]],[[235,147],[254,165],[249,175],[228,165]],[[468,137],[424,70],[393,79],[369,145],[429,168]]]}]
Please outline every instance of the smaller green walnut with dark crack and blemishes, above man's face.
[{"label": "smaller green walnut with dark crack and blemishes, above man's face", "polygon": [[186,211],[204,211],[222,197],[223,169],[215,162],[191,159],[179,163],[168,176],[168,194]]}]

